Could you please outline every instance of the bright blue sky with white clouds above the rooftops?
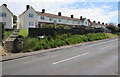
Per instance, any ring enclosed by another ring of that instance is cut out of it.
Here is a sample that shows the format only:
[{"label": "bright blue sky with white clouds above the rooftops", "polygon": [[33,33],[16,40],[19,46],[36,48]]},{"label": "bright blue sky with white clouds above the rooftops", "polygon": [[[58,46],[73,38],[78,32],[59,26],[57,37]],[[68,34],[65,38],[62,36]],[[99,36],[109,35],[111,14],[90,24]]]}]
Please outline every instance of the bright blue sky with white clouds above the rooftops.
[{"label": "bright blue sky with white clouds above the rooftops", "polygon": [[74,18],[90,19],[101,23],[118,23],[118,1],[119,0],[0,0],[0,5],[7,7],[14,15],[19,16],[26,10],[26,5],[32,6],[36,11],[45,9],[46,13],[63,16],[74,15]]}]

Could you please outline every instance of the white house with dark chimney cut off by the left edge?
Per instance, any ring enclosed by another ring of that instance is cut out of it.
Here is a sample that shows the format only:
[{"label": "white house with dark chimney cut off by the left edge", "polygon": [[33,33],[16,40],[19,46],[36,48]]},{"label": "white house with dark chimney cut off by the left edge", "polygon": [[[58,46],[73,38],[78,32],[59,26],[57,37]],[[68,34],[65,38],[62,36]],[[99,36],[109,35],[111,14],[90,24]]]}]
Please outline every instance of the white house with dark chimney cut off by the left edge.
[{"label": "white house with dark chimney cut off by the left edge", "polygon": [[4,28],[13,29],[13,13],[6,4],[0,6],[0,22],[4,24]]}]

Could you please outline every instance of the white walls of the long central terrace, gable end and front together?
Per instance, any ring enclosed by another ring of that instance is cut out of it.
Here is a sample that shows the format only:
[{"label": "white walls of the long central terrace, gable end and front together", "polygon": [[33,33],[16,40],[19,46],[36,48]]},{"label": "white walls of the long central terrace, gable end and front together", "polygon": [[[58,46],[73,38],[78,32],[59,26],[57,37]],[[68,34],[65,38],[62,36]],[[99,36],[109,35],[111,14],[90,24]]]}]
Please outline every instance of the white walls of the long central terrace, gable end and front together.
[{"label": "white walls of the long central terrace, gable end and front together", "polygon": [[[30,13],[34,15],[34,18],[29,18]],[[43,16],[44,20],[42,20],[41,16],[42,15],[37,15],[35,10],[32,7],[30,7],[27,11],[25,11],[22,15],[19,16],[18,29],[28,29],[29,27],[35,28],[38,22],[54,23],[54,21],[56,21],[57,24],[66,24],[73,26],[81,26],[81,25],[89,26],[89,22],[87,19],[85,19],[85,21],[73,21],[73,20]],[[53,20],[50,21],[49,18],[52,18]],[[61,20],[61,22],[59,22],[59,19]],[[30,26],[29,22],[34,22],[34,25]]]}]

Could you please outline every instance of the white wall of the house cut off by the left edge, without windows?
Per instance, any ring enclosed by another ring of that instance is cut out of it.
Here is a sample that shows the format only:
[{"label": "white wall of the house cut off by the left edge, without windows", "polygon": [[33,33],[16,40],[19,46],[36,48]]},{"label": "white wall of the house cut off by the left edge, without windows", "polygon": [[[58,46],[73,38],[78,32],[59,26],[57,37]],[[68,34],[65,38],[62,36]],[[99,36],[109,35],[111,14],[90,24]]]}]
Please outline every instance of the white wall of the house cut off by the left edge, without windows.
[{"label": "white wall of the house cut off by the left edge, without windows", "polygon": [[0,22],[6,22],[5,28],[13,29],[13,14],[4,6],[0,6],[0,13],[6,13],[6,17],[0,16]]}]

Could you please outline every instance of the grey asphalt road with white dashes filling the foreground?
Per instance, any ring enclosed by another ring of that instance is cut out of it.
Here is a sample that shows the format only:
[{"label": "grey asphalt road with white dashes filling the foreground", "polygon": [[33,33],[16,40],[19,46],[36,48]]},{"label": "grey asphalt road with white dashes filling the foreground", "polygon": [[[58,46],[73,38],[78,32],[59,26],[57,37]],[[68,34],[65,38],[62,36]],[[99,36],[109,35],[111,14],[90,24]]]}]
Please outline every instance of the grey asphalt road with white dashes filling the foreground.
[{"label": "grey asphalt road with white dashes filling the foreground", "polygon": [[118,39],[2,63],[3,75],[118,75]]}]

